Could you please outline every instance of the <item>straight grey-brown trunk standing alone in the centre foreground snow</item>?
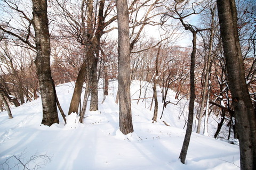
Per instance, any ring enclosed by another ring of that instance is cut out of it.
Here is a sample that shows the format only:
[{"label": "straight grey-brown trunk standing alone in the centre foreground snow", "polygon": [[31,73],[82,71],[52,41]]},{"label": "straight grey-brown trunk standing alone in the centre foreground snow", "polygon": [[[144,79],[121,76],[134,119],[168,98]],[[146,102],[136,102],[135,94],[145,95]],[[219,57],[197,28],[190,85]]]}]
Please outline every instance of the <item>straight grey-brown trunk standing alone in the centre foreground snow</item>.
[{"label": "straight grey-brown trunk standing alone in the centre foreground snow", "polygon": [[119,129],[123,134],[133,132],[130,92],[129,11],[126,0],[116,0],[118,23],[118,97]]}]

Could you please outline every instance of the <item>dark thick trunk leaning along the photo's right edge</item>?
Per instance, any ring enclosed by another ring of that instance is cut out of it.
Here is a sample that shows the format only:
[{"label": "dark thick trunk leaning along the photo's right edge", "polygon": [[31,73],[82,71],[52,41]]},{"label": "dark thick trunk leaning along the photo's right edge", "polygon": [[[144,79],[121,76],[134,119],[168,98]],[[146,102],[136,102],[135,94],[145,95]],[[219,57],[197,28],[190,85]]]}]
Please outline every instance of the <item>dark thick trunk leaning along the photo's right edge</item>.
[{"label": "dark thick trunk leaning along the photo's right edge", "polygon": [[241,169],[256,169],[256,117],[247,89],[235,0],[217,0],[228,83],[235,108]]}]

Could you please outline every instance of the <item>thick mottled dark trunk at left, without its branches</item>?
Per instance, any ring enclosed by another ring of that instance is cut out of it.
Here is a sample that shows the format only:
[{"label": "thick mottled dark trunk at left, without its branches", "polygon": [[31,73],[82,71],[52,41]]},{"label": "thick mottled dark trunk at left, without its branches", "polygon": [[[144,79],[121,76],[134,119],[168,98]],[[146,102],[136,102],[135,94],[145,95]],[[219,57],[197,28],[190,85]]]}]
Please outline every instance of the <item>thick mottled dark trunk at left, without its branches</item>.
[{"label": "thick mottled dark trunk at left, without its branches", "polygon": [[54,84],[50,68],[50,34],[47,18],[47,1],[33,0],[33,26],[36,37],[36,60],[37,75],[41,91],[43,106],[42,124],[52,125],[59,123]]}]

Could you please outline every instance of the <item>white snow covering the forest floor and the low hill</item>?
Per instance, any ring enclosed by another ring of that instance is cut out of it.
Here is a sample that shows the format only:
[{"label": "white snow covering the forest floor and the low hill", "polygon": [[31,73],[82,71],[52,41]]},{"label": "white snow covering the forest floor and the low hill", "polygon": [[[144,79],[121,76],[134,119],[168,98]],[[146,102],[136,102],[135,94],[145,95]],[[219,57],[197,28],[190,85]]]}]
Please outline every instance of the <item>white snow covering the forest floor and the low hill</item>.
[{"label": "white snow covering the forest floor and the low hill", "polygon": [[[143,82],[145,83],[145,82]],[[60,104],[68,112],[74,83],[57,87]],[[131,85],[132,99],[139,98],[139,81]],[[147,91],[146,91],[147,88]],[[145,95],[146,91],[146,95]],[[0,169],[18,169],[20,156],[23,163],[33,155],[47,155],[50,162],[41,159],[30,162],[27,167],[33,169],[36,164],[44,169],[239,169],[239,147],[227,141],[213,139],[216,121],[210,121],[209,137],[195,132],[191,135],[186,164],[180,163],[179,154],[185,136],[183,129],[187,119],[188,100],[182,99],[178,105],[169,104],[162,113],[161,89],[159,96],[158,120],[152,123],[153,109],[150,104],[153,96],[151,84],[143,86],[139,104],[132,100],[132,118],[134,132],[124,135],[118,128],[118,105],[115,103],[117,81],[110,81],[109,96],[103,100],[103,91],[99,89],[99,111],[86,110],[84,124],[79,123],[76,113],[67,116],[65,125],[59,114],[60,123],[51,127],[41,125],[41,99],[13,108],[13,119],[6,112],[0,113]],[[175,93],[169,92],[167,100],[174,100]],[[88,105],[89,106],[89,105]],[[168,125],[166,126],[163,121]],[[203,121],[202,121],[203,122]],[[193,128],[195,130],[196,123]],[[5,164],[6,159],[9,159]],[[19,165],[19,169],[23,169]]]}]

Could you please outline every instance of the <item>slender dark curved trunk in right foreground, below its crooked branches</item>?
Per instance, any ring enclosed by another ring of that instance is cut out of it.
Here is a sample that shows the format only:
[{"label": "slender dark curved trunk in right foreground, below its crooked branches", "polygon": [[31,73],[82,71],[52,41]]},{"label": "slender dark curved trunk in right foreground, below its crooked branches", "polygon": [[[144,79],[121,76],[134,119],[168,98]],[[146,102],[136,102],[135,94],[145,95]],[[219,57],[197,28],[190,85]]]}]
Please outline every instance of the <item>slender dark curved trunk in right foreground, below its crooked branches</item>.
[{"label": "slender dark curved trunk in right foreground, below its crooked branches", "polygon": [[195,60],[196,60],[196,31],[191,31],[193,33],[193,50],[191,53],[191,65],[190,65],[190,99],[189,99],[189,110],[188,110],[188,122],[187,130],[185,134],[185,139],[183,141],[182,149],[180,152],[180,161],[185,164],[188,146],[190,142],[190,137],[193,127],[194,119],[194,104],[195,104]]}]

